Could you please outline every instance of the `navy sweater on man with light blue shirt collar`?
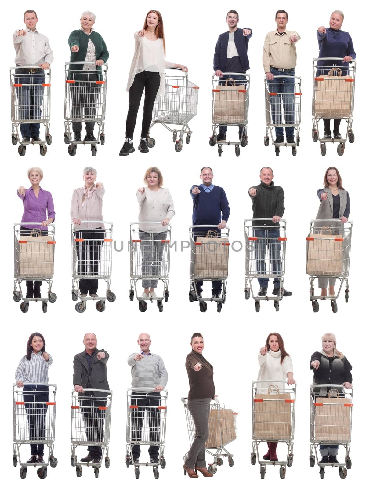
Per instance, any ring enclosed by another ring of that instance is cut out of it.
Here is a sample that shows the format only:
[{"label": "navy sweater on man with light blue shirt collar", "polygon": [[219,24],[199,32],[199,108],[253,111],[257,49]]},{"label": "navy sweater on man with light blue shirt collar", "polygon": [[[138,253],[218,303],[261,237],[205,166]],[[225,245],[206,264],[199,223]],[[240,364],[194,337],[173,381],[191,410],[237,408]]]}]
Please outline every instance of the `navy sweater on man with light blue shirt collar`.
[{"label": "navy sweater on man with light blue shirt collar", "polygon": [[[193,195],[194,187],[198,187],[201,192]],[[230,207],[223,188],[215,185],[211,192],[205,192],[198,184],[192,185],[190,193],[193,199],[192,223],[194,226],[199,224],[217,225],[221,221],[228,221]]]}]

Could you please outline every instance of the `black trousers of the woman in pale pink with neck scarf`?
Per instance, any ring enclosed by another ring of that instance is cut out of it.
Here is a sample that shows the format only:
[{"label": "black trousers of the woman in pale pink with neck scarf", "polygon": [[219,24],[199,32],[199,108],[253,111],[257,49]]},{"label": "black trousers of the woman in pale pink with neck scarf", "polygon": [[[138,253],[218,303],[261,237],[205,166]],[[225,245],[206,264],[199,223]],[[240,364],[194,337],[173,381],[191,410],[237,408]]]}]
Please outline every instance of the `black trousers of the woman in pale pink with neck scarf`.
[{"label": "black trousers of the woman in pale pink with neck scarf", "polygon": [[[97,229],[78,229],[75,238],[83,238],[84,242],[76,242],[78,256],[79,275],[98,275],[99,259],[103,248],[106,231],[100,227]],[[81,294],[96,294],[98,291],[98,279],[79,280]]]}]

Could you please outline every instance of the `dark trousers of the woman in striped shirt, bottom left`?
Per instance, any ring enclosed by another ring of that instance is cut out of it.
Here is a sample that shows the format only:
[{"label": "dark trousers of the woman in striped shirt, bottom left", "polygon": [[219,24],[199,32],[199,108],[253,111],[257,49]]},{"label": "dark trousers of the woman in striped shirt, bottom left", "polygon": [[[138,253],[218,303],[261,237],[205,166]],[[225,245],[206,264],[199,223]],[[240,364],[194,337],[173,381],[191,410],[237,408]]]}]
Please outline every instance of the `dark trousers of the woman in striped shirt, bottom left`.
[{"label": "dark trousers of the woman in striped shirt, bottom left", "polygon": [[[23,387],[23,400],[28,419],[29,440],[44,440],[46,436],[44,422],[47,414],[48,385],[25,385]],[[31,454],[43,456],[43,446],[31,444]]]}]

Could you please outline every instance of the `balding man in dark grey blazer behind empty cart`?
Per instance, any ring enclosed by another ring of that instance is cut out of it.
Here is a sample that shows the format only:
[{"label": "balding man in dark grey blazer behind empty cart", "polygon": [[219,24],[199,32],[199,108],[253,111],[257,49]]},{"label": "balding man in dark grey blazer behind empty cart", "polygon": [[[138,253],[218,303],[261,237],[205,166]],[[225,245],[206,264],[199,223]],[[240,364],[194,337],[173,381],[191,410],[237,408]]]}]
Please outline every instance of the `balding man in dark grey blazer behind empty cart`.
[{"label": "balding man in dark grey blazer behind empty cart", "polygon": [[[78,393],[81,414],[86,428],[86,438],[89,442],[103,441],[103,425],[106,416],[106,396],[102,393],[84,391],[84,389],[109,390],[107,380],[107,362],[109,355],[105,350],[97,349],[97,337],[94,333],[86,333],[83,343],[84,352],[74,356],[73,384]],[[91,399],[91,395],[94,399]],[[83,399],[86,397],[86,399]],[[81,462],[99,464],[102,457],[101,446],[88,446],[88,455]]]}]

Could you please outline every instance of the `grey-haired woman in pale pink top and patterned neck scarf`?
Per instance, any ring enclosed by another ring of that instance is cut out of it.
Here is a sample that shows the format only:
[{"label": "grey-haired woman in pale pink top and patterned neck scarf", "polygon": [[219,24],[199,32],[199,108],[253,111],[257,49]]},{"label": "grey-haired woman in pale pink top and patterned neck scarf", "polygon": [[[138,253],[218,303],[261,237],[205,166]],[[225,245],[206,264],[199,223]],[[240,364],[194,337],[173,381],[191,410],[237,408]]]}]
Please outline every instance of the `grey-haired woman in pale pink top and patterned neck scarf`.
[{"label": "grey-haired woman in pale pink top and patterned neck scarf", "polygon": [[[75,238],[86,242],[76,243],[79,275],[98,275],[99,258],[106,231],[103,223],[102,207],[105,189],[103,183],[97,182],[97,171],[87,166],[83,171],[84,186],[76,188],[71,199],[71,220],[74,224]],[[92,222],[94,221],[94,222]],[[90,240],[92,240],[90,242]],[[79,281],[80,297],[98,297],[98,279]]]}]

